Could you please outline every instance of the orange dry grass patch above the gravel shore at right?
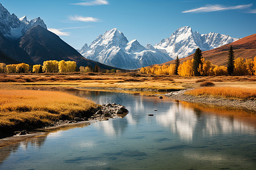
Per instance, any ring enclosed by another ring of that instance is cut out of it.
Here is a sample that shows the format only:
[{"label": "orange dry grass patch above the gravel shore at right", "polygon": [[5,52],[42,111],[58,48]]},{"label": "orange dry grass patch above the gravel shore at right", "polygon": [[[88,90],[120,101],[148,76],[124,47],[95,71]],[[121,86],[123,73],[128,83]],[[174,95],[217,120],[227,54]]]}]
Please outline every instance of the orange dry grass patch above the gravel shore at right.
[{"label": "orange dry grass patch above the gravel shore at right", "polygon": [[255,100],[256,89],[252,88],[235,88],[235,87],[203,87],[185,92],[186,95],[192,96],[214,96],[231,99]]}]

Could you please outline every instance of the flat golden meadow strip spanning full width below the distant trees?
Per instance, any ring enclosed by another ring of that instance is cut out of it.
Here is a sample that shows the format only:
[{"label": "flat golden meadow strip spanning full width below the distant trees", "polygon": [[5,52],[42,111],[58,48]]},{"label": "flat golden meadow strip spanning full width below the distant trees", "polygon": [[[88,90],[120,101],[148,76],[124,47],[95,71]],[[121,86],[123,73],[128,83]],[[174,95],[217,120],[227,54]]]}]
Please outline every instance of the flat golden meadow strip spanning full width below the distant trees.
[{"label": "flat golden meadow strip spanning full width below the distant trees", "polygon": [[171,91],[198,88],[199,82],[212,81],[216,87],[256,87],[256,76],[181,77],[139,73],[44,73],[0,74],[0,82],[28,86],[72,86],[94,89],[122,88],[133,90]]}]

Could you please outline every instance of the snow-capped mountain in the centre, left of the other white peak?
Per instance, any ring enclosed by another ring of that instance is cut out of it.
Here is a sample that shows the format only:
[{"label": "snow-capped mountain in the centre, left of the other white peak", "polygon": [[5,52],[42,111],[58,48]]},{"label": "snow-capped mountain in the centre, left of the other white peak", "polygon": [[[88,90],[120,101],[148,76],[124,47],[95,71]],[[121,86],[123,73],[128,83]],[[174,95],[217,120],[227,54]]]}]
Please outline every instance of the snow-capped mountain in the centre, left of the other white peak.
[{"label": "snow-capped mountain in the centre, left of the other white peak", "polygon": [[168,54],[160,52],[152,45],[146,47],[137,40],[128,41],[117,28],[106,31],[79,52],[85,58],[122,69],[137,69],[171,60]]}]

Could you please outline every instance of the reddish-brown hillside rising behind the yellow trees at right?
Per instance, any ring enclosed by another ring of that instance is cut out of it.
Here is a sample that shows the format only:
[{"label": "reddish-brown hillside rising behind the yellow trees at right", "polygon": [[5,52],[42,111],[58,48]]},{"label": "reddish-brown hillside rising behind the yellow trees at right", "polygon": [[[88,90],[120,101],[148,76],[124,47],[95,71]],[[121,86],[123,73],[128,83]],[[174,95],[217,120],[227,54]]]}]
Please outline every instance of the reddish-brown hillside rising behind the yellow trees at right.
[{"label": "reddish-brown hillside rising behind the yellow trees at right", "polygon": [[[210,60],[214,65],[226,65],[226,61],[228,58],[228,50],[232,45],[234,49],[235,58],[254,58],[256,56],[256,33],[247,37],[244,37],[240,40],[234,41],[230,44],[226,44],[224,46],[220,46],[216,49],[208,50],[202,52],[204,59]],[[188,57],[181,58],[180,62],[183,63],[188,59],[192,59],[193,54]],[[175,60],[168,61],[166,63],[162,63],[160,65],[170,65],[171,63],[175,63]]]}]

